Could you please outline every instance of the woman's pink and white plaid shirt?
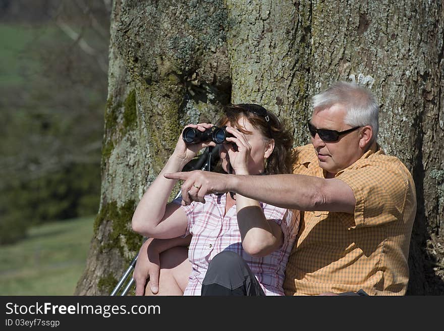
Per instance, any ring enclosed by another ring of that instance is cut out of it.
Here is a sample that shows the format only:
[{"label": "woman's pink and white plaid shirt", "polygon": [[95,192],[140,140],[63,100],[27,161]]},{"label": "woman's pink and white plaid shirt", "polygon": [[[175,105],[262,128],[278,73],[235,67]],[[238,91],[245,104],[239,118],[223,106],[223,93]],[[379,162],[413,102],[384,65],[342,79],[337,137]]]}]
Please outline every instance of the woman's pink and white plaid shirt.
[{"label": "woman's pink and white plaid shirt", "polygon": [[[287,209],[261,202],[260,206],[265,217],[281,226],[284,244],[267,256],[253,257],[242,247],[236,205],[232,206],[224,216],[226,199],[226,194],[210,194],[205,196],[206,203],[193,202],[189,206],[183,206],[188,218],[184,237],[193,235],[188,250],[193,270],[184,295],[200,295],[209,262],[217,253],[224,250],[242,256],[266,295],[284,295],[282,286],[285,266],[298,233],[299,212],[297,211],[297,214],[295,211],[289,212],[284,219]],[[174,202],[180,204],[181,198]]]}]

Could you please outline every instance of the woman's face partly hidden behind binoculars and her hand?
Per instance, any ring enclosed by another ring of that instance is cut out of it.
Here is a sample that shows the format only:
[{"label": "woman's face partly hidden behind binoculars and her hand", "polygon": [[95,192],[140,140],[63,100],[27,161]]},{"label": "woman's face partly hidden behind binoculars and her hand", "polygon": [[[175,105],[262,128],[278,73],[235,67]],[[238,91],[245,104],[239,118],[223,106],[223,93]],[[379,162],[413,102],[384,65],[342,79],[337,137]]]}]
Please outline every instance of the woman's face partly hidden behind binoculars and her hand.
[{"label": "woman's face partly hidden behind binoculars and her hand", "polygon": [[[264,172],[264,155],[267,149],[267,139],[262,135],[262,133],[254,128],[250,122],[245,117],[241,117],[238,122],[239,126],[246,131],[250,131],[250,134],[244,134],[247,142],[251,146],[250,156],[247,157],[247,169],[251,175],[258,175]],[[230,122],[227,126],[232,126]],[[236,127],[235,127],[236,128]],[[222,144],[219,156],[221,160],[221,167],[225,172],[229,172],[230,157],[228,150],[232,149],[232,144]],[[268,152],[267,154],[269,154]],[[269,156],[269,155],[267,155]]]}]

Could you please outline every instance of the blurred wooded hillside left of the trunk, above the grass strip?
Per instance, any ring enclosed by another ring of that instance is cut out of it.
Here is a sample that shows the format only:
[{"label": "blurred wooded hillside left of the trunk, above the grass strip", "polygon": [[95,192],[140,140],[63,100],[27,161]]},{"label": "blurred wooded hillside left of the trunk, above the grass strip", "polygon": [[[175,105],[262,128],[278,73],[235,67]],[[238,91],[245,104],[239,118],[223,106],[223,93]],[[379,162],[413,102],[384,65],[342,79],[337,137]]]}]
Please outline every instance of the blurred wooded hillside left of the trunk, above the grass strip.
[{"label": "blurred wooded hillside left of the trunk, above the grass strip", "polygon": [[100,196],[108,0],[0,0],[0,244]]}]

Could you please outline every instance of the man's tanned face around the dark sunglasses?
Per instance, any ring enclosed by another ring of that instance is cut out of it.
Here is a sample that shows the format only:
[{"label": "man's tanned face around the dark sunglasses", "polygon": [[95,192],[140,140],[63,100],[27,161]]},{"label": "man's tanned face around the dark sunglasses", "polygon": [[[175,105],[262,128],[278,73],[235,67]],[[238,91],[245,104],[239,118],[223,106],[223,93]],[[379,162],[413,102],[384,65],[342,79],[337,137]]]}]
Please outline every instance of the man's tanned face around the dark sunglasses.
[{"label": "man's tanned face around the dark sunglasses", "polygon": [[[310,123],[317,129],[329,129],[344,131],[352,127],[344,123],[346,110],[341,104],[334,104],[329,108],[315,111]],[[359,147],[361,130],[357,129],[339,137],[335,142],[324,142],[316,133],[311,137],[319,166],[325,170],[331,177],[339,171],[351,166],[362,156],[362,150]]]}]

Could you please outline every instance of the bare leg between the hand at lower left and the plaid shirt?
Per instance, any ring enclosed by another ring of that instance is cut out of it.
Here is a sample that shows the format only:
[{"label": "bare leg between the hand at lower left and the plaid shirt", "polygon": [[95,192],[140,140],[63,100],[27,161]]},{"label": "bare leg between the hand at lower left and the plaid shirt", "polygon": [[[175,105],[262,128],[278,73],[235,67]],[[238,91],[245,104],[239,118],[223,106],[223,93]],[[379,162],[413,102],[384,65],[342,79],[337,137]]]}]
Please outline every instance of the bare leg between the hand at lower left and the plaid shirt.
[{"label": "bare leg between the hand at lower left and the plaid shirt", "polygon": [[[155,295],[183,295],[190,273],[191,263],[185,246],[173,247],[160,253],[159,291]],[[145,295],[154,295],[149,282]]]}]

